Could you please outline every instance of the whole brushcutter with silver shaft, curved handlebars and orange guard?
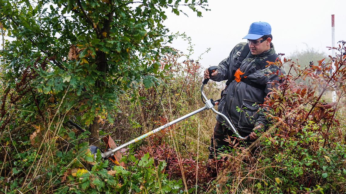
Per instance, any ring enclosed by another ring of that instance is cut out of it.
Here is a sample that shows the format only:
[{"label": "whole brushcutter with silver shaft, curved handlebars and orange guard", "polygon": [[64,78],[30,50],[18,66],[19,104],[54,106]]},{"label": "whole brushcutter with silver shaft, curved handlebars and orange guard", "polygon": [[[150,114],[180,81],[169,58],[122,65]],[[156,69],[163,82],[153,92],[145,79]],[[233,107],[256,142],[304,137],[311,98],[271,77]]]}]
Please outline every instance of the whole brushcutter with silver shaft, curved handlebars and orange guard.
[{"label": "whole brushcutter with silver shaft, curved handlebars and orange guard", "polygon": [[[216,66],[209,67],[208,68],[209,76],[211,76],[212,72],[215,72],[215,70],[216,70]],[[215,108],[213,108],[215,106],[216,101],[213,101],[213,99],[208,99],[207,96],[204,94],[204,91],[203,91],[204,85],[206,85],[208,83],[208,81],[209,81],[209,79],[204,79],[203,83],[202,83],[202,86],[201,86],[201,97],[202,97],[203,103],[205,104],[204,107],[202,107],[202,108],[200,108],[198,110],[195,110],[195,111],[193,111],[193,112],[191,112],[191,113],[189,113],[189,114],[187,114],[185,116],[177,118],[177,119],[175,119],[175,120],[173,120],[173,121],[171,121],[171,122],[169,122],[169,123],[167,123],[167,124],[165,124],[165,125],[163,125],[161,127],[158,127],[156,129],[152,130],[151,132],[148,132],[148,133],[146,133],[144,135],[141,135],[141,136],[139,136],[139,137],[137,137],[135,139],[132,139],[129,142],[127,142],[125,144],[122,144],[122,145],[120,145],[118,147],[116,146],[116,144],[114,143],[112,138],[108,135],[107,137],[103,138],[103,141],[107,144],[107,151],[101,153],[102,158],[108,158],[112,162],[114,162],[115,164],[119,165],[119,161],[121,159],[121,154],[118,151],[120,151],[121,149],[129,146],[130,144],[136,143],[139,140],[142,140],[142,139],[144,139],[146,137],[149,137],[149,136],[153,135],[154,133],[161,131],[164,128],[167,128],[167,127],[169,127],[169,126],[171,126],[171,125],[173,125],[175,123],[178,123],[178,122],[180,122],[180,121],[182,121],[182,120],[184,120],[186,118],[189,118],[192,115],[195,115],[197,113],[200,113],[200,112],[202,112],[204,110],[209,110],[209,109],[211,109],[214,113],[216,113],[216,114],[220,115],[222,118],[224,118],[226,120],[226,122],[228,123],[228,126],[231,127],[231,129],[233,130],[233,132],[236,134],[236,136],[239,139],[248,140],[249,136],[247,136],[247,137],[240,136],[239,133],[237,132],[236,128],[234,127],[234,125],[231,123],[231,121],[224,114],[218,112],[217,110],[215,110]],[[90,151],[91,151],[92,154],[94,154],[94,156],[97,153],[98,149],[100,149],[100,148],[98,148],[96,146],[90,146]],[[100,151],[101,151],[101,149],[100,149]]]}]

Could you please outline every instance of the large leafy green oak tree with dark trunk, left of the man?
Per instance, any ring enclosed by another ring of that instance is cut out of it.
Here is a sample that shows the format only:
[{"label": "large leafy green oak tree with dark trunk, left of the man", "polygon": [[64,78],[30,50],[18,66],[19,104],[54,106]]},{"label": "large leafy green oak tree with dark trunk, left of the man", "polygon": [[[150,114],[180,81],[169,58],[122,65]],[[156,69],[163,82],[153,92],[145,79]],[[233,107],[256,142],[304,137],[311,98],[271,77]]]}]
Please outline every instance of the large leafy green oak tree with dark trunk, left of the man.
[{"label": "large leafy green oak tree with dark trunk, left of the man", "polygon": [[[183,13],[180,7],[186,6],[201,16],[197,8],[206,9],[206,3],[0,0],[1,27],[15,39],[7,41],[0,53],[7,82],[12,83],[5,89],[15,87],[23,72],[35,74],[27,83],[33,89],[28,93],[33,99],[22,106],[32,106],[30,111],[41,112],[44,117],[46,113],[40,109],[49,104],[49,99],[59,104],[65,97],[65,114],[91,124],[95,142],[99,123],[103,119],[112,122],[119,95],[142,81],[146,88],[151,87],[160,76],[159,58],[172,51],[164,46],[172,40],[163,25],[165,12],[179,15]],[[2,117],[9,114],[3,113]]]}]

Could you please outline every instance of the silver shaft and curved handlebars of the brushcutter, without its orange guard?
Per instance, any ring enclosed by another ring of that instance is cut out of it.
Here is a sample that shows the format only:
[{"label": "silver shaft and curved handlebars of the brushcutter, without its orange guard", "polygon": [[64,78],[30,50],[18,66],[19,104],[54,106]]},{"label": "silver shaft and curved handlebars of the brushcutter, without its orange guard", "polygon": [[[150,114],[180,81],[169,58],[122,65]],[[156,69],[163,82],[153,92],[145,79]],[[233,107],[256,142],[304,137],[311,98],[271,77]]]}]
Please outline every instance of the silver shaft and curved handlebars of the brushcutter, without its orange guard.
[{"label": "silver shaft and curved handlebars of the brushcutter, without its orange guard", "polygon": [[[215,70],[216,70],[216,66],[212,66],[212,67],[208,68],[209,75],[211,76],[212,72],[214,72]],[[202,108],[200,108],[198,110],[195,110],[192,113],[189,113],[189,114],[187,114],[185,116],[177,118],[177,119],[175,119],[175,120],[173,120],[173,121],[171,121],[171,122],[169,122],[169,123],[167,123],[167,124],[165,124],[165,125],[163,125],[161,127],[158,127],[156,129],[152,130],[151,132],[148,132],[148,133],[146,133],[144,135],[141,135],[141,136],[139,136],[139,137],[137,137],[135,139],[132,139],[131,141],[129,141],[129,142],[125,143],[125,144],[122,144],[119,147],[116,147],[116,148],[111,149],[111,150],[109,150],[107,152],[101,153],[102,158],[107,158],[109,156],[113,156],[115,152],[117,152],[117,151],[127,147],[130,144],[136,143],[139,140],[142,140],[142,139],[144,139],[144,138],[146,138],[148,136],[151,136],[154,133],[159,132],[162,129],[167,128],[167,127],[169,127],[169,126],[171,126],[171,125],[173,125],[175,123],[178,123],[178,122],[180,122],[180,121],[182,121],[182,120],[184,120],[184,119],[186,119],[188,117],[191,117],[192,115],[195,115],[195,114],[197,114],[197,113],[199,113],[199,112],[201,112],[203,110],[209,110],[209,109],[211,109],[214,113],[216,113],[216,114],[220,115],[222,118],[224,118],[227,121],[227,123],[229,124],[229,126],[231,126],[232,130],[234,131],[234,133],[237,135],[238,138],[240,138],[240,139],[248,139],[246,137],[240,136],[239,133],[237,132],[237,130],[235,129],[235,127],[231,124],[230,120],[224,114],[219,113],[218,111],[216,111],[213,108],[215,106],[215,102],[213,101],[213,99],[208,99],[207,96],[204,94],[204,91],[203,91],[203,87],[204,87],[205,84],[208,83],[208,81],[209,81],[209,79],[204,79],[203,80],[203,84],[201,86],[201,95],[202,95],[202,97],[205,100],[205,102],[204,102],[205,106],[204,107],[202,107]]]}]

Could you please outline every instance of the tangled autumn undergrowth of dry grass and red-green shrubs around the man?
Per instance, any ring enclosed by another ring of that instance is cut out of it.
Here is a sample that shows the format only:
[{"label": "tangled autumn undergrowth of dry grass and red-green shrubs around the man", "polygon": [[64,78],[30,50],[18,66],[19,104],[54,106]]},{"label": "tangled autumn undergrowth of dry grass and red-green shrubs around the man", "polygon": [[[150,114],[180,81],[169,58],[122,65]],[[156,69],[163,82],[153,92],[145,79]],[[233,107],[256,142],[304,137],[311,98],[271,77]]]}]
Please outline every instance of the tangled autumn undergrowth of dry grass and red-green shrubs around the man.
[{"label": "tangled autumn undergrowth of dry grass and red-green shrubs around the man", "polygon": [[[253,147],[223,153],[213,162],[207,161],[215,124],[211,111],[122,150],[125,167],[116,166],[88,151],[88,126],[80,124],[81,115],[72,114],[78,107],[71,99],[35,95],[30,84],[42,64],[24,69],[15,81],[3,72],[0,192],[345,193],[346,55],[345,42],[339,43],[334,72],[330,59],[305,69],[285,58],[271,64],[289,67],[261,107],[268,108],[271,127]],[[122,94],[114,123],[99,118],[101,137],[109,134],[122,144],[204,106],[198,61],[177,52],[160,62],[166,67],[163,79],[149,89],[138,85]],[[335,103],[326,100],[332,90]],[[210,82],[205,93],[218,99],[220,89]]]}]

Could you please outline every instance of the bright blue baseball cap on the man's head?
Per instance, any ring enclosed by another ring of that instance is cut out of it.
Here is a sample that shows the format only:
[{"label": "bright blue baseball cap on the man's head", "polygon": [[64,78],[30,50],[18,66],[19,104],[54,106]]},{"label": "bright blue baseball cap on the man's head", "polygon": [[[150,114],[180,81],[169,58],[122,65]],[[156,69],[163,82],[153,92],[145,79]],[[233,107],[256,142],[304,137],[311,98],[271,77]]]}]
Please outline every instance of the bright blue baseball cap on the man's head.
[{"label": "bright blue baseball cap on the man's head", "polygon": [[263,35],[270,35],[272,27],[267,22],[254,22],[250,25],[248,34],[243,39],[256,40]]}]

